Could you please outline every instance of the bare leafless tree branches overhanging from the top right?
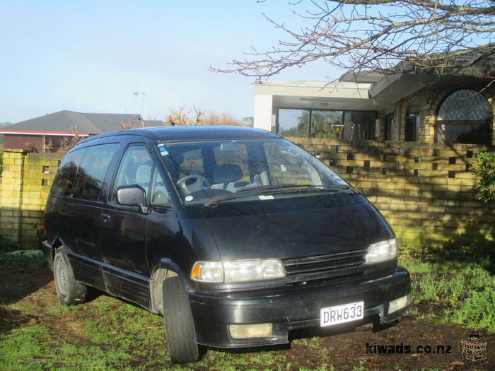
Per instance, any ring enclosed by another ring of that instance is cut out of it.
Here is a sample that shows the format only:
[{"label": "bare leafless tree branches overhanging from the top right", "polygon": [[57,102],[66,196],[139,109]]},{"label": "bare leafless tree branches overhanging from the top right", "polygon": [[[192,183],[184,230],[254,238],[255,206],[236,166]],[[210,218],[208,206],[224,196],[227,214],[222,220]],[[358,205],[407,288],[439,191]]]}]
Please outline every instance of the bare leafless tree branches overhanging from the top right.
[{"label": "bare leafless tree branches overhanging from the top right", "polygon": [[[264,1],[264,0],[263,0]],[[289,3],[301,7],[301,0]],[[244,76],[268,78],[291,66],[324,60],[347,71],[443,73],[495,57],[494,0],[311,0],[301,30],[268,18],[287,35],[272,49],[253,48],[226,69]],[[481,71],[491,76],[494,71]]]}]

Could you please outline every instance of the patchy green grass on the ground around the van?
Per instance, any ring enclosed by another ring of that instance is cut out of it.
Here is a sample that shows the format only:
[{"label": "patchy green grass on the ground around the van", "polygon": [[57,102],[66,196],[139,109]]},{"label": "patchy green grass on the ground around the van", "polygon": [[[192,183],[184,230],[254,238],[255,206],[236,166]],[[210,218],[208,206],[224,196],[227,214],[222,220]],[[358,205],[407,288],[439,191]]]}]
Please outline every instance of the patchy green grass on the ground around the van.
[{"label": "patchy green grass on the ground around the van", "polygon": [[[495,331],[488,257],[449,261],[406,254],[400,265],[412,274],[416,317]],[[340,370],[335,362],[351,341],[309,336],[279,351],[209,349],[199,363],[173,365],[163,319],[155,314],[106,295],[76,306],[61,305],[50,287],[30,296],[0,305],[0,370]],[[357,352],[346,370],[371,370],[369,360]]]}]

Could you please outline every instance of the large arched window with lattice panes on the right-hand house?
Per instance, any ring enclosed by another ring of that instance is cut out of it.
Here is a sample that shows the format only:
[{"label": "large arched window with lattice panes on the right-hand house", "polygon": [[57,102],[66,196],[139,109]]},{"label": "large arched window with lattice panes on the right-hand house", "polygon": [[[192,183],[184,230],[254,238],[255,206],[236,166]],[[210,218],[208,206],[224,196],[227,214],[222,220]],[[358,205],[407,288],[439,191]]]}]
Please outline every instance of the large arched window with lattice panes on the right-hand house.
[{"label": "large arched window with lattice panes on the right-hand house", "polygon": [[445,143],[491,144],[491,106],[476,90],[448,95],[436,115],[436,139]]}]

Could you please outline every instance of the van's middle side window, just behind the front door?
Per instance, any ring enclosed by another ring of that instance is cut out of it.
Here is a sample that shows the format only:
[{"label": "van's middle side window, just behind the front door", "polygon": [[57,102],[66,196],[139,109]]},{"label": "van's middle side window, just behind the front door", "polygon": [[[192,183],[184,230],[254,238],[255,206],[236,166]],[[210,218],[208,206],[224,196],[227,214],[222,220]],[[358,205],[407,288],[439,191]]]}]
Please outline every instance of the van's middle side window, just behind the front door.
[{"label": "van's middle side window, just behind the front door", "polygon": [[74,198],[98,199],[108,167],[119,146],[118,143],[111,143],[86,148],[72,191]]}]

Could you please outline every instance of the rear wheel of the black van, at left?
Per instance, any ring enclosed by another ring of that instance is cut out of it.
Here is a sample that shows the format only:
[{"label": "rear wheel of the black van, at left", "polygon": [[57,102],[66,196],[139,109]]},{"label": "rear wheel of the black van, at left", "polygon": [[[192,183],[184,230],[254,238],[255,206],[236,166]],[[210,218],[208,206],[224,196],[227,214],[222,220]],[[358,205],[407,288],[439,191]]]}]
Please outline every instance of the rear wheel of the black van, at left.
[{"label": "rear wheel of the black van, at left", "polygon": [[53,276],[55,278],[55,288],[62,303],[66,305],[78,304],[86,300],[88,288],[82,283],[78,283],[74,278],[71,264],[63,247],[57,249],[53,259]]}]

